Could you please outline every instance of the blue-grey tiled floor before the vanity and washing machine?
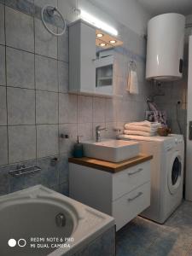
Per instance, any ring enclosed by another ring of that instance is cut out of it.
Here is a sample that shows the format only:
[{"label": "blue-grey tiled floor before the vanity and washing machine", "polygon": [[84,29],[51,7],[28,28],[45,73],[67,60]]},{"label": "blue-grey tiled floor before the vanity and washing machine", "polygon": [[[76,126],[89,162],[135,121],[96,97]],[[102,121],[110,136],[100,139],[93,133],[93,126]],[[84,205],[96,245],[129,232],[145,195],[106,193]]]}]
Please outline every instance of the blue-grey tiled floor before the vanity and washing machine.
[{"label": "blue-grey tiled floor before the vanity and washing machine", "polygon": [[163,225],[137,217],[117,233],[117,256],[192,256],[192,203]]}]

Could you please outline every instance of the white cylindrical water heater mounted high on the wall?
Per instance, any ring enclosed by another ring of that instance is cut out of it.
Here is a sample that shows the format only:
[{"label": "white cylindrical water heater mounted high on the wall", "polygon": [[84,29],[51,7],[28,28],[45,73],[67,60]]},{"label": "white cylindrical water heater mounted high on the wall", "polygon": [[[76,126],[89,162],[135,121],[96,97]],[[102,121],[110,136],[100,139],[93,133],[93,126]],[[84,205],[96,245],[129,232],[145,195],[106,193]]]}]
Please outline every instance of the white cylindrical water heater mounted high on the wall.
[{"label": "white cylindrical water heater mounted high on the wall", "polygon": [[174,81],[183,75],[185,17],[158,15],[148,21],[146,79]]}]

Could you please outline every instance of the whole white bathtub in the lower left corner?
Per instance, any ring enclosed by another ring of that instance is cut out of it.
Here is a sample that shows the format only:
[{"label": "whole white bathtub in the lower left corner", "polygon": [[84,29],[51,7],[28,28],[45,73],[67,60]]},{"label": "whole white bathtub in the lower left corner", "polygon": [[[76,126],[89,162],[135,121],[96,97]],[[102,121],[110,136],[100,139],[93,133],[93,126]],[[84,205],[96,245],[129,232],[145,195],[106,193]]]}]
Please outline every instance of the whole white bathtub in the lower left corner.
[{"label": "whole white bathtub in the lower left corner", "polygon": [[73,255],[113,225],[112,217],[38,185],[0,197],[0,255]]}]

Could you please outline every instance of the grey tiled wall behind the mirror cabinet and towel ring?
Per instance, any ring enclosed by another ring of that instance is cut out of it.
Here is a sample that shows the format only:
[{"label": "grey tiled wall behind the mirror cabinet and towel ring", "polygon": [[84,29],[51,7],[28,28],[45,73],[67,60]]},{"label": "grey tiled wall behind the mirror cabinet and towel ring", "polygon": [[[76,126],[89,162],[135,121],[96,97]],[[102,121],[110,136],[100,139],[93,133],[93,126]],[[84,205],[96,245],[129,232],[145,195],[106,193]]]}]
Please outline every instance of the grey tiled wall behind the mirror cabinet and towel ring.
[{"label": "grey tiled wall behind the mirror cabinet and towel ring", "polygon": [[[15,0],[9,2],[14,5]],[[40,6],[43,2],[35,1],[35,4]],[[31,7],[34,8],[33,4]],[[125,44],[114,53],[115,96],[69,95],[68,34],[61,38],[50,35],[38,19],[39,14],[33,13],[33,9],[27,12],[0,4],[0,170],[3,175],[5,169],[22,161],[35,160],[45,168],[55,156],[58,165],[66,161],[63,165],[66,169],[77,135],[82,135],[82,139],[94,138],[96,125],[102,125],[108,128],[102,137],[115,137],[114,127],[122,128],[125,122],[143,120],[147,108],[145,99],[150,91],[144,79],[146,42],[137,33],[119,25]],[[5,30],[1,26],[4,20]],[[126,91],[131,60],[137,63],[138,96]],[[61,133],[69,138],[61,139]],[[58,170],[56,167],[55,172]],[[64,169],[63,172],[67,173]],[[44,173],[45,180],[40,183],[53,186],[46,176],[48,172]],[[27,183],[31,184],[29,179],[22,181],[21,188]],[[62,186],[65,190],[66,183],[66,178],[59,178],[55,185],[65,184]]]}]

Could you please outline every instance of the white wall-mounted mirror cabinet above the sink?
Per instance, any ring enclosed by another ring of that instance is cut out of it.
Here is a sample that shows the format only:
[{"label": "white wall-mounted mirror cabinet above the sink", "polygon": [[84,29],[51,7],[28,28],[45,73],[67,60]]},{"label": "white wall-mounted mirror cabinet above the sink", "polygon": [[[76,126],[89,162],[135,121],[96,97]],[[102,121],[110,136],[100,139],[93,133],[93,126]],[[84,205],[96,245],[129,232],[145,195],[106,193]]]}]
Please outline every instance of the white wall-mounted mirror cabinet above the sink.
[{"label": "white wall-mounted mirror cabinet above the sink", "polygon": [[70,93],[113,96],[114,60],[113,55],[105,55],[104,51],[96,45],[94,26],[84,20],[69,26]]}]

